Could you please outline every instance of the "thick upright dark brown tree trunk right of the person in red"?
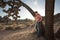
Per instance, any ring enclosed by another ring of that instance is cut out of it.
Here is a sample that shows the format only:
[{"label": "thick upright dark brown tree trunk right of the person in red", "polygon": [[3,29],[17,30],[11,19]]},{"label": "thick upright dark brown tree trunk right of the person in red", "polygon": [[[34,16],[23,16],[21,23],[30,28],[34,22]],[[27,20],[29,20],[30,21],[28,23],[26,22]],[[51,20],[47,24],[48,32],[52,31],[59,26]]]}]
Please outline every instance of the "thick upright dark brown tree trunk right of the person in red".
[{"label": "thick upright dark brown tree trunk right of the person in red", "polygon": [[46,40],[55,40],[53,31],[55,0],[45,0],[45,35]]}]

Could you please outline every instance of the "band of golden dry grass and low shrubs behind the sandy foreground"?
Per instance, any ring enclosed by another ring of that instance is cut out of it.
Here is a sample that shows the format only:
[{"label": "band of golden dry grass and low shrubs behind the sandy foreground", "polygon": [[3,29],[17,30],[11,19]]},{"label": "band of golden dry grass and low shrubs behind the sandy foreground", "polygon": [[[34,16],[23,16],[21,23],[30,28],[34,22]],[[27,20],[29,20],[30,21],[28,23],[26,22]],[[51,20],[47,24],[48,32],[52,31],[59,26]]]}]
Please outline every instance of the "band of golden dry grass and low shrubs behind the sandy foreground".
[{"label": "band of golden dry grass and low shrubs behind the sandy foreground", "polygon": [[29,26],[33,26],[33,23],[30,22],[21,22],[20,24],[11,24],[5,25],[4,23],[0,23],[0,30],[15,30],[15,29],[23,29]]}]

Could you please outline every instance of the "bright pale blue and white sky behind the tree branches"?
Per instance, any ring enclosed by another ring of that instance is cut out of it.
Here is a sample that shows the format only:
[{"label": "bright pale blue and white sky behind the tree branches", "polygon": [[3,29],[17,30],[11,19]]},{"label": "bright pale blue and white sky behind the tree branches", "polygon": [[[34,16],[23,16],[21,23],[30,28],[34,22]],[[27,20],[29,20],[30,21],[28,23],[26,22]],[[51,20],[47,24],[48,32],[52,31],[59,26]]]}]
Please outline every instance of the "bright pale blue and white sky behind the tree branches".
[{"label": "bright pale blue and white sky behind the tree branches", "polygon": [[[38,11],[39,14],[42,16],[45,16],[45,0],[21,0],[25,4],[27,4],[33,11]],[[54,9],[54,14],[60,13],[60,0],[55,0],[55,9]],[[8,10],[10,8],[8,5],[4,8]],[[31,15],[31,13],[21,6],[19,9],[19,16],[21,17],[20,19],[34,19],[34,17]],[[5,12],[2,12],[3,8],[0,7],[0,16],[5,16],[7,15]],[[12,19],[12,18],[11,18]]]}]

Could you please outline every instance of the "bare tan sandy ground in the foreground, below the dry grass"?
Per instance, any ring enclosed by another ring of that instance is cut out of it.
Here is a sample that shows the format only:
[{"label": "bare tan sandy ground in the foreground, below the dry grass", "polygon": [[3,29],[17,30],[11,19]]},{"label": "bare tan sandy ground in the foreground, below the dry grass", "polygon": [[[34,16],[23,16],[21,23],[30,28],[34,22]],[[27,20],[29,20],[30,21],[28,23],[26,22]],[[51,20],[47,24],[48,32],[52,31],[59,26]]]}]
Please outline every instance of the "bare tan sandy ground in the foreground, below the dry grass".
[{"label": "bare tan sandy ground in the foreground, below the dry grass", "polygon": [[0,31],[0,40],[44,40],[43,37],[37,38],[34,28],[27,27],[21,30]]}]

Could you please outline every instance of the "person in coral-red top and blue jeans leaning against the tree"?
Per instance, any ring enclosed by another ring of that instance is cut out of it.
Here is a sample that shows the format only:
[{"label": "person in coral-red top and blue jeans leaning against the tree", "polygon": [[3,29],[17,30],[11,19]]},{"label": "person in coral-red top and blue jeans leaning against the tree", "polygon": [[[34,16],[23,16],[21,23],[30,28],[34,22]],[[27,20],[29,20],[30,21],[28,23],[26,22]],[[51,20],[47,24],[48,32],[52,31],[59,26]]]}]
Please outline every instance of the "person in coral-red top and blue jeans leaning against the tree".
[{"label": "person in coral-red top and blue jeans leaning against the tree", "polygon": [[41,27],[42,16],[37,11],[35,12],[35,21],[36,21],[37,36],[40,37],[42,36],[42,27]]}]

